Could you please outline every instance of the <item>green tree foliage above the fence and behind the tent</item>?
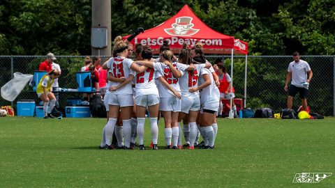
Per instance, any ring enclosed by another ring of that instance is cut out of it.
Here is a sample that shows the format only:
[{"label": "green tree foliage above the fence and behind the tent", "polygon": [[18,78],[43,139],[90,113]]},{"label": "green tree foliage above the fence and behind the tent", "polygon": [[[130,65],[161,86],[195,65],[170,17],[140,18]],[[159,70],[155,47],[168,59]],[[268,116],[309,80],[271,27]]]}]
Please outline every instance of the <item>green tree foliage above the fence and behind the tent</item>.
[{"label": "green tree foliage above the fence and behind the tent", "polygon": [[[249,43],[250,54],[335,54],[333,0],[116,0],[112,38],[150,29],[188,4],[212,29]],[[16,0],[0,4],[0,54],[90,54],[91,1]]]}]

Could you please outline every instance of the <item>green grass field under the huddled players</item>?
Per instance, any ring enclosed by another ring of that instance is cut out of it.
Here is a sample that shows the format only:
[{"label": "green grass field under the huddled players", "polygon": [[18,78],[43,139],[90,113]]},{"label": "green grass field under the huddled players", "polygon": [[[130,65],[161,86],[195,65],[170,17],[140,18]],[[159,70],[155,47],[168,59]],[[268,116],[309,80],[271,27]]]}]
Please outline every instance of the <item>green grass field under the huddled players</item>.
[{"label": "green grass field under the huddled players", "polygon": [[[335,118],[219,119],[214,150],[99,150],[104,125],[0,118],[0,187],[335,187]],[[333,175],[293,183],[301,172]]]}]

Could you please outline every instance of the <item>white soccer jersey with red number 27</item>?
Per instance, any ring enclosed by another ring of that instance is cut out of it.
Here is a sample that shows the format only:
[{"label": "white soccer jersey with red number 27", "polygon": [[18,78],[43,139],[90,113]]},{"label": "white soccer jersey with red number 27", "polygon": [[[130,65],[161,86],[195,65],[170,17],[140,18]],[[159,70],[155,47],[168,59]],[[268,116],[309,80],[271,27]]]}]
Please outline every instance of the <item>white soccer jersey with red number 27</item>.
[{"label": "white soccer jersey with red number 27", "polygon": [[159,63],[154,63],[154,68],[148,68],[146,71],[136,73],[136,97],[140,95],[159,95],[156,86],[156,74],[161,69]]}]

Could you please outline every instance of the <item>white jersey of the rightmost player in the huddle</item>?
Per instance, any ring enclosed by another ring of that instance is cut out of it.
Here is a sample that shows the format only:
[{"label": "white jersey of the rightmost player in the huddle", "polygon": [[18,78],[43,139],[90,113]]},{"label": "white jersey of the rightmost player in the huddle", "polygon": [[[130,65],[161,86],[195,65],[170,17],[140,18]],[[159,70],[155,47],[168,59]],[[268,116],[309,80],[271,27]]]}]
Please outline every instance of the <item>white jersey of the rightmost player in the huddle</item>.
[{"label": "white jersey of the rightmost player in the huddle", "polygon": [[211,85],[203,88],[202,91],[200,91],[200,104],[218,102],[218,92],[216,89],[217,87],[214,83],[213,75],[211,75],[210,70],[208,70],[207,68],[203,68],[200,71],[199,85],[204,83],[202,75],[209,75],[209,79],[211,79]]}]

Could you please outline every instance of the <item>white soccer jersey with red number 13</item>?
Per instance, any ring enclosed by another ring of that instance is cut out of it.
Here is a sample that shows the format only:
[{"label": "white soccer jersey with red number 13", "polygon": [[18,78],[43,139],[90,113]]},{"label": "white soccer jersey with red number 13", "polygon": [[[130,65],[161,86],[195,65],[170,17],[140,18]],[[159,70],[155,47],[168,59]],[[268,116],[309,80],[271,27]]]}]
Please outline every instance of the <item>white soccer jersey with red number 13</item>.
[{"label": "white soccer jersey with red number 13", "polygon": [[[129,75],[135,75],[135,71],[131,70],[133,60],[130,58],[116,57],[110,58],[107,61],[107,68],[110,68],[112,76],[116,78],[124,77],[127,79]],[[118,86],[119,82],[110,81],[110,86]],[[133,94],[131,83],[119,88],[117,91],[111,91],[112,94]]]}]

